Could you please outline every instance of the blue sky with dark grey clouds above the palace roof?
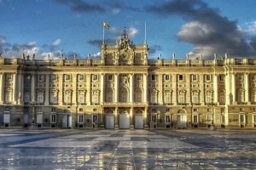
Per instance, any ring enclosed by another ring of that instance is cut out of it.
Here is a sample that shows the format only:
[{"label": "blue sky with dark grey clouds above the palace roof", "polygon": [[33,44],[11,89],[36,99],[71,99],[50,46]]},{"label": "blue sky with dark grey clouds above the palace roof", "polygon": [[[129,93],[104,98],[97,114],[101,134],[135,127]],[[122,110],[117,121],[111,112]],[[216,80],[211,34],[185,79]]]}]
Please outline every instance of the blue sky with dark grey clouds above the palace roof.
[{"label": "blue sky with dark grey clouds above the palace roof", "polygon": [[149,59],[256,56],[255,0],[0,0],[0,53],[36,59],[100,56],[126,29]]}]

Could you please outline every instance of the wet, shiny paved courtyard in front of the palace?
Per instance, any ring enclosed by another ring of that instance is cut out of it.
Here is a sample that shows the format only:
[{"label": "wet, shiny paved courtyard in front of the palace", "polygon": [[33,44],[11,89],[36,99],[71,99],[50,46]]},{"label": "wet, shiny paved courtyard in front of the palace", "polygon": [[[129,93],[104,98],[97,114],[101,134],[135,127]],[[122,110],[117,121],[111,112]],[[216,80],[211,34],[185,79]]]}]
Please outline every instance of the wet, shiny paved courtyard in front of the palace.
[{"label": "wet, shiny paved courtyard in front of the palace", "polygon": [[255,150],[255,130],[0,130],[0,169],[256,169]]}]

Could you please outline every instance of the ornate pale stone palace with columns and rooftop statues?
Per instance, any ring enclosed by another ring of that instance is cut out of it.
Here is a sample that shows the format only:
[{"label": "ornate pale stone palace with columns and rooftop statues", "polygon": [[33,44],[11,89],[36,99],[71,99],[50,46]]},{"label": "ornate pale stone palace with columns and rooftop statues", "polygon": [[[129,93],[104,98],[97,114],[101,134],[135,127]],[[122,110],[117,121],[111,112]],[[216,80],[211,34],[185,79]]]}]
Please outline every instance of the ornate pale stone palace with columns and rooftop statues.
[{"label": "ornate pale stone palace with columns and rooftop statues", "polygon": [[0,58],[0,126],[256,127],[256,59],[148,59],[125,31],[101,59]]}]

